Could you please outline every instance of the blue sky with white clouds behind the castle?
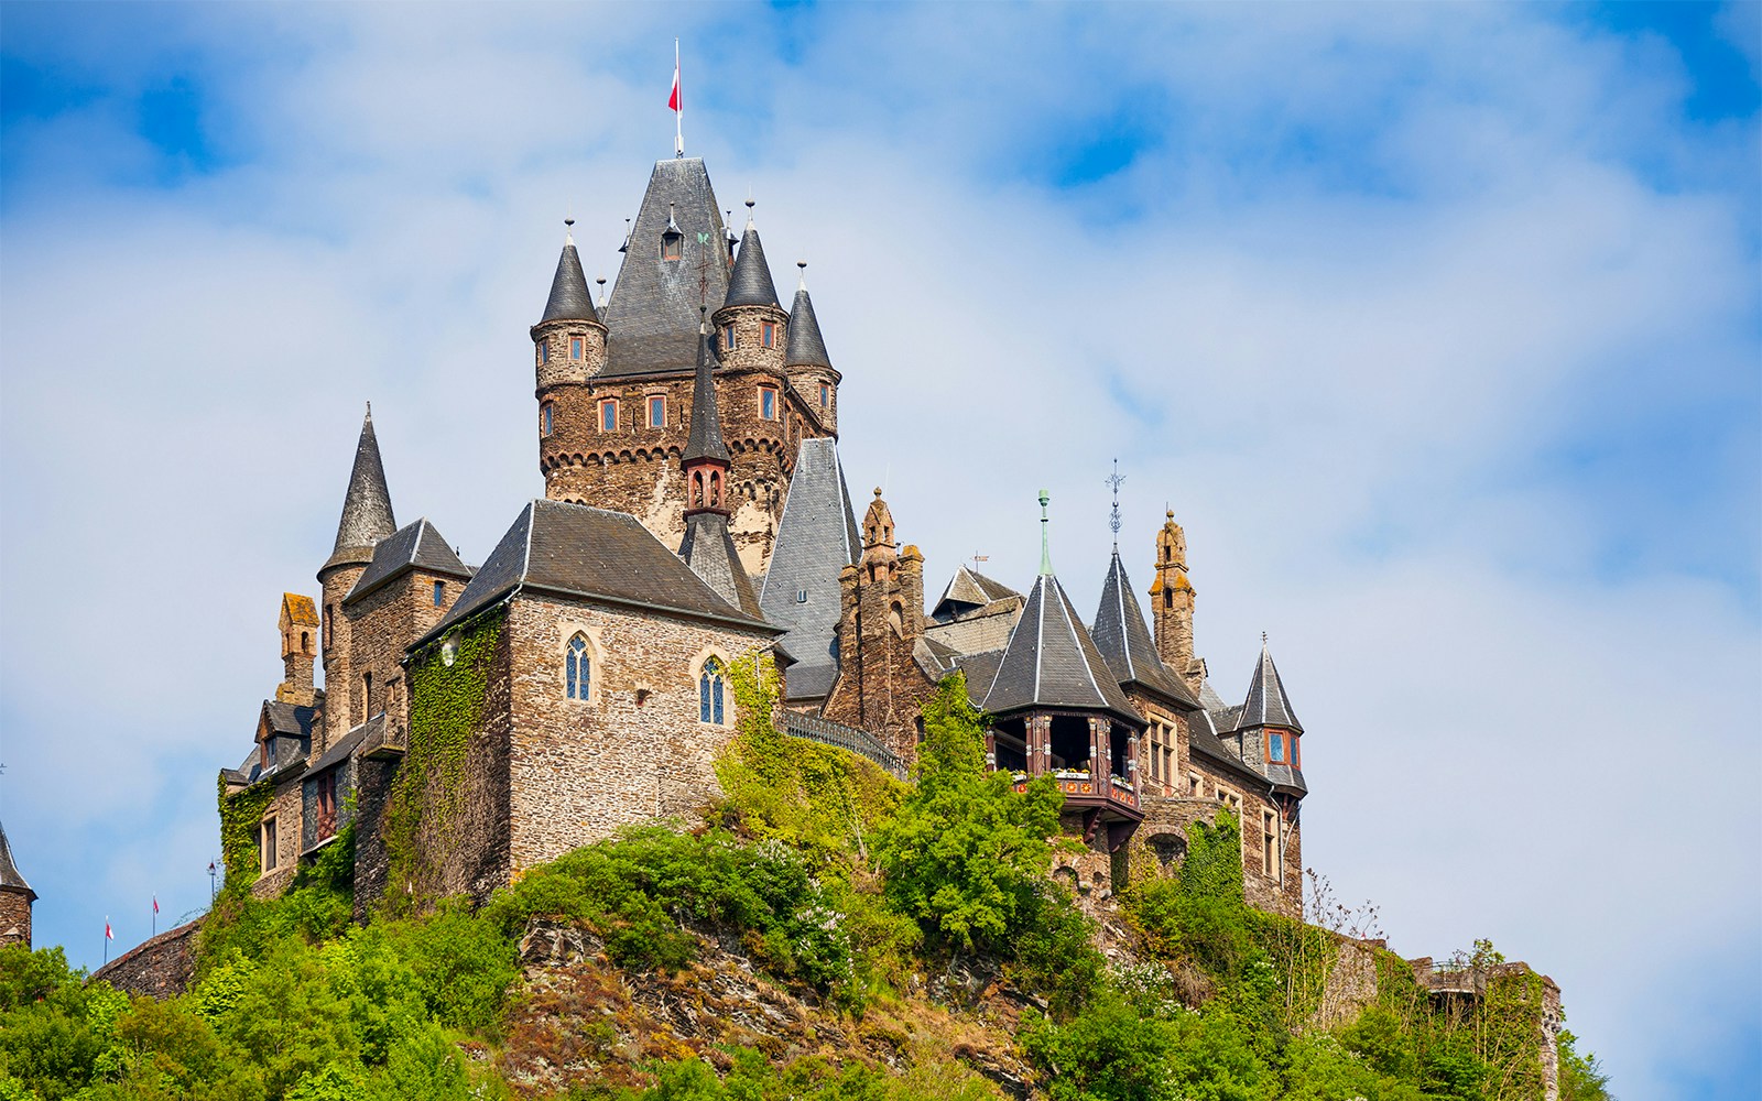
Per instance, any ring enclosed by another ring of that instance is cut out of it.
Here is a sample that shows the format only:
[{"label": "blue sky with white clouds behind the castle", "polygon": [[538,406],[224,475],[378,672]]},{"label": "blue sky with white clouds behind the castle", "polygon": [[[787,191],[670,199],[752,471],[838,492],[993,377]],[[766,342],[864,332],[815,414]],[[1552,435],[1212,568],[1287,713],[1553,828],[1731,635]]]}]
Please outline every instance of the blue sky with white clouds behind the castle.
[{"label": "blue sky with white clouds behind the castle", "polygon": [[208,900],[213,777],[361,403],[470,562],[541,491],[578,218],[685,146],[811,262],[853,490],[1269,632],[1306,860],[1558,979],[1623,1097],[1762,1089],[1757,4],[7,4],[0,821],[85,965]]}]

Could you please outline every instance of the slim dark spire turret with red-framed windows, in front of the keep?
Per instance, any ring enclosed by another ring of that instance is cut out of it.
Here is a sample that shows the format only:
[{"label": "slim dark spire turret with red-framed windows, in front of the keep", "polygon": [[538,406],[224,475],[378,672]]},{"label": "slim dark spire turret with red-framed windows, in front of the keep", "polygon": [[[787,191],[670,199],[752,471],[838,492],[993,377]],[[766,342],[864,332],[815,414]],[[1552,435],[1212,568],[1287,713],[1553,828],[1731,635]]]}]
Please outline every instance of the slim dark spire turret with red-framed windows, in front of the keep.
[{"label": "slim dark spire turret with red-framed windows, in front of the keep", "polygon": [[685,440],[685,453],[680,454],[680,469],[685,474],[685,537],[678,544],[678,557],[719,597],[752,618],[761,618],[752,580],[728,534],[729,462],[715,403],[712,361],[710,328],[705,324],[698,340],[698,373],[691,391],[691,437]]}]

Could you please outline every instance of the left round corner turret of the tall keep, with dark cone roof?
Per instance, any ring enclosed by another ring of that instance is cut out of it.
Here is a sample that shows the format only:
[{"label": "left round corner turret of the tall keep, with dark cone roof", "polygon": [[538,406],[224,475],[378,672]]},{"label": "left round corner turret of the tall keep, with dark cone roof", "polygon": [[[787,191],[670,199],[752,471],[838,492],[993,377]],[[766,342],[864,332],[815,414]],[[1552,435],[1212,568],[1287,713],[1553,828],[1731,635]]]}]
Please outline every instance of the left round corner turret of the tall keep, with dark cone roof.
[{"label": "left round corner turret of the tall keep, with dark cone roof", "polygon": [[[573,227],[574,218],[564,225]],[[592,449],[604,430],[601,407],[594,400],[590,379],[606,366],[606,326],[599,321],[594,298],[587,292],[587,275],[574,250],[573,229],[564,233],[557,275],[552,277],[544,315],[530,329],[534,373],[539,402],[539,472],[544,495],[552,500],[583,504],[590,490],[587,469],[569,456]],[[610,407],[617,428],[617,403]]]}]

